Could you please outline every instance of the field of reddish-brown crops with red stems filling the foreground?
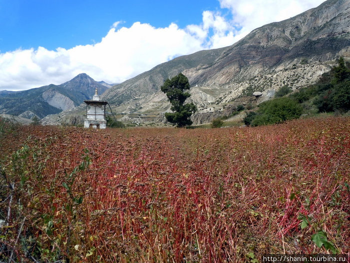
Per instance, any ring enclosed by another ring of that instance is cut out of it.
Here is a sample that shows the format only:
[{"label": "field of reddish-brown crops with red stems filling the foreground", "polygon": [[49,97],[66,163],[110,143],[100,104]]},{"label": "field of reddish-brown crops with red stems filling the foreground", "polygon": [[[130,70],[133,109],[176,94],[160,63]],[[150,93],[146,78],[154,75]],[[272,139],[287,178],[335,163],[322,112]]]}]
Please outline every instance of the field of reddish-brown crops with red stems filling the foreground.
[{"label": "field of reddish-brown crops with red stems filling the foreground", "polygon": [[3,125],[0,261],[349,253],[349,131],[348,117],[221,129]]}]

